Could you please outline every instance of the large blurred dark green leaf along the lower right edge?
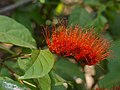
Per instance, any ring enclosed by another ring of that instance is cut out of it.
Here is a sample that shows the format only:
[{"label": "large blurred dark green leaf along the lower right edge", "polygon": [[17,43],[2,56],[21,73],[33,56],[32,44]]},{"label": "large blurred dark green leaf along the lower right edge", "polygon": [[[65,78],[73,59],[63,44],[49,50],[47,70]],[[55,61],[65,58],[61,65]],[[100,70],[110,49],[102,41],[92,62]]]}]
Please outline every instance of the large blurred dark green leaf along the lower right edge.
[{"label": "large blurred dark green leaf along the lower right edge", "polygon": [[120,40],[114,41],[111,48],[113,58],[109,58],[109,73],[99,81],[100,87],[111,88],[120,85]]}]

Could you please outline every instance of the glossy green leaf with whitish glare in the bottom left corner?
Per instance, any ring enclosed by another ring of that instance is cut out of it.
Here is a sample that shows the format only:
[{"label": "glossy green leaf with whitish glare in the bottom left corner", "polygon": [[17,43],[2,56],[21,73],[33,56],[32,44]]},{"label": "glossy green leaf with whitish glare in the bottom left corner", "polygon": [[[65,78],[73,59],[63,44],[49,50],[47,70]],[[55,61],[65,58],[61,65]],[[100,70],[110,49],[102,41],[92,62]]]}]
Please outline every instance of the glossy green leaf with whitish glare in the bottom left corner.
[{"label": "glossy green leaf with whitish glare in the bottom left corner", "polygon": [[31,90],[24,84],[15,82],[7,77],[0,77],[0,90]]}]

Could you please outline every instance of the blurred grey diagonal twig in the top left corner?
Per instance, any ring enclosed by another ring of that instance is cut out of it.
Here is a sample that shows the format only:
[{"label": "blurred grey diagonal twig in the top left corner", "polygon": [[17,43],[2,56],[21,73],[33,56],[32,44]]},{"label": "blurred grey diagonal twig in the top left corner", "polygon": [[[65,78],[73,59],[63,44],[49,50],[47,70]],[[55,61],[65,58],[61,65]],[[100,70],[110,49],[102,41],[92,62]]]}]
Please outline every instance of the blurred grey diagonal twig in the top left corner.
[{"label": "blurred grey diagonal twig in the top left corner", "polygon": [[3,14],[3,13],[6,13],[7,11],[10,11],[10,10],[13,10],[13,9],[16,9],[18,7],[21,7],[23,5],[26,5],[30,2],[32,2],[33,0],[21,0],[15,4],[12,4],[12,5],[9,5],[7,7],[4,7],[2,9],[0,9],[0,14]]}]

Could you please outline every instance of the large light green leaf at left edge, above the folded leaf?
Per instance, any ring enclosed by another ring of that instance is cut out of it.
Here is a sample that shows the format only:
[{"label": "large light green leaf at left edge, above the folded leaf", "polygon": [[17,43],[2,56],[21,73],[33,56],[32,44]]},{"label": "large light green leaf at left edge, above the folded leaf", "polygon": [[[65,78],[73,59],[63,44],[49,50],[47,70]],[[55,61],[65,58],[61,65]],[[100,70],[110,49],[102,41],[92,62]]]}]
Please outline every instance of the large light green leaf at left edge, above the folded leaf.
[{"label": "large light green leaf at left edge, above the folded leaf", "polygon": [[26,48],[36,48],[36,42],[27,28],[2,15],[0,15],[0,42]]}]

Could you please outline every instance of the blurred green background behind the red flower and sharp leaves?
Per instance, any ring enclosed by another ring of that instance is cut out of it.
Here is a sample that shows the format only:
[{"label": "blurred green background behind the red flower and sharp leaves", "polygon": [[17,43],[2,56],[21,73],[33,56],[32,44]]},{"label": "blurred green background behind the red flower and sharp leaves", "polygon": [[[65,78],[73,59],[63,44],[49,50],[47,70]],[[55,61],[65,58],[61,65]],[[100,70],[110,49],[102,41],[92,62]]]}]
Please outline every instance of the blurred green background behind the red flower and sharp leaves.
[{"label": "blurred green background behind the red flower and sharp leaves", "polygon": [[[120,86],[120,0],[0,0],[0,14],[24,25],[36,40],[37,47],[42,49],[46,48],[43,26],[59,25],[63,20],[67,22],[67,26],[93,27],[96,33],[103,34],[112,41],[111,58],[94,66],[96,72],[92,75],[94,84],[100,88]],[[11,52],[5,47],[16,53],[30,52],[26,48],[1,43],[0,58],[9,56],[8,52]],[[57,59],[60,60],[55,63],[54,71],[67,80],[68,84],[67,87],[53,84],[52,90],[86,90],[86,77],[85,72],[81,70],[82,67],[62,57]],[[15,62],[8,61],[7,64],[16,72],[21,72]],[[0,75],[13,78],[5,68],[1,68]],[[82,79],[82,83],[76,82],[79,78]]]}]

